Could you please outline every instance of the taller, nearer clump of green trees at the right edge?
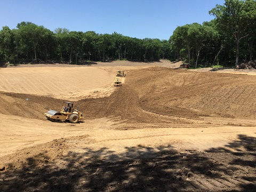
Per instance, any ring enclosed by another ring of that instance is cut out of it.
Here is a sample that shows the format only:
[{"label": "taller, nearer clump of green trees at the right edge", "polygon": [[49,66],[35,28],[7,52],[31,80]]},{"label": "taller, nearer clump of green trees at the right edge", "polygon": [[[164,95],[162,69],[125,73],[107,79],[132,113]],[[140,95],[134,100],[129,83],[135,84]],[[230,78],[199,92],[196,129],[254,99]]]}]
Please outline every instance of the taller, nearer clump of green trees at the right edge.
[{"label": "taller, nearer clump of green trees at the right edge", "polygon": [[177,27],[169,41],[177,59],[195,67],[255,60],[256,1],[226,0],[211,11],[215,19]]}]

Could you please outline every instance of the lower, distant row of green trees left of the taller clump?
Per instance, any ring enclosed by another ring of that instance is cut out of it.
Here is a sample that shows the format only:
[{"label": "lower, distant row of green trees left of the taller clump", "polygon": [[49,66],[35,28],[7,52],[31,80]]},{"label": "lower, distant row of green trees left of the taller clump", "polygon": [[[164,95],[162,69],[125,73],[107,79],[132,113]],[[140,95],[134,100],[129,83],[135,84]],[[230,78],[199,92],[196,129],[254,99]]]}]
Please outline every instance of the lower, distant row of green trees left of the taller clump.
[{"label": "lower, distant row of green trees left of the taller clump", "polygon": [[57,28],[54,33],[31,22],[18,23],[17,29],[5,26],[0,31],[0,60],[18,62],[166,59],[170,43],[159,39],[138,39],[122,34],[97,34],[94,31],[69,31]]}]

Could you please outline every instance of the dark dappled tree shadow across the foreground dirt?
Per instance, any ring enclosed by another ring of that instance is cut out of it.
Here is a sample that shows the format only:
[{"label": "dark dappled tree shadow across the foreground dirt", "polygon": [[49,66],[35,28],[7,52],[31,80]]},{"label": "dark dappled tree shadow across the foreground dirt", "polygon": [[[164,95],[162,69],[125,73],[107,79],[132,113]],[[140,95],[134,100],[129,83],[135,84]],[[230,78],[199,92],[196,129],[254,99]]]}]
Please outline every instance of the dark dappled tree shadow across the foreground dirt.
[{"label": "dark dappled tree shadow across the foreground dirt", "polygon": [[[69,140],[66,142],[62,144],[68,145]],[[122,154],[115,154],[108,148],[83,148],[82,153],[68,151],[66,155],[52,159],[47,155],[51,151],[42,151],[28,157],[20,167],[2,172],[0,189],[255,191],[255,143],[256,138],[238,135],[238,140],[223,148],[209,149],[208,153],[177,151],[170,145],[156,148],[127,147]],[[248,146],[252,146],[249,151]],[[228,148],[242,150],[236,154]],[[223,153],[219,153],[220,150]]]}]

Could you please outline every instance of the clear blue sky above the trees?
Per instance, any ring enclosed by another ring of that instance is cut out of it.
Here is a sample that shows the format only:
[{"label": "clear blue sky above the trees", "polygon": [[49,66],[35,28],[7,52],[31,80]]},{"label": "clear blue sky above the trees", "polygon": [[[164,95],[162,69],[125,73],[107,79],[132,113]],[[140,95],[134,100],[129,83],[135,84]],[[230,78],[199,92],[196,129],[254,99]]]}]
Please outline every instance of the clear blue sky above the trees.
[{"label": "clear blue sky above the trees", "polygon": [[54,31],[117,32],[124,36],[169,39],[175,28],[210,21],[209,11],[225,0],[0,0],[0,29],[22,21]]}]

